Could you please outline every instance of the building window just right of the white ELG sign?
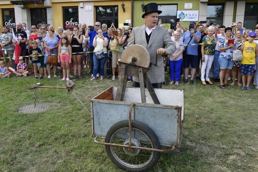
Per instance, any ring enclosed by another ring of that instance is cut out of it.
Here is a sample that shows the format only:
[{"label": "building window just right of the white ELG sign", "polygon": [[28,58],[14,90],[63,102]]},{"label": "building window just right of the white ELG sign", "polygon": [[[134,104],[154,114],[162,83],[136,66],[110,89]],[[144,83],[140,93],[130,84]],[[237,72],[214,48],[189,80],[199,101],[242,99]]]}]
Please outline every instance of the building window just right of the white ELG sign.
[{"label": "building window just right of the white ELG sign", "polygon": [[207,16],[206,19],[210,21],[210,23],[216,23],[217,25],[222,25],[223,22],[223,10],[224,5],[207,5]]}]

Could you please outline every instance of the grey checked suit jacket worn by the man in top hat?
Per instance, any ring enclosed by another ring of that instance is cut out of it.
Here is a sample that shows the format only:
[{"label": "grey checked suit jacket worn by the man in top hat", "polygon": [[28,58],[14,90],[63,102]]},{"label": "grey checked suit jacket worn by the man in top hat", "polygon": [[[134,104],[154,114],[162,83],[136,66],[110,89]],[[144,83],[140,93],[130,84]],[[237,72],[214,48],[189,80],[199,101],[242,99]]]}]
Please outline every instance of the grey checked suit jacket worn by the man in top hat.
[{"label": "grey checked suit jacket worn by the man in top hat", "polygon": [[[157,49],[166,48],[166,51],[171,54],[176,50],[175,43],[172,42],[168,35],[168,29],[158,25],[151,32],[149,44],[147,44],[146,41],[144,25],[134,28],[127,47],[134,44],[144,46],[148,50],[151,57],[151,63],[155,63],[156,61]],[[161,55],[158,55],[157,66],[152,65],[151,69],[147,72],[147,75],[151,83],[161,83],[165,81],[163,57]],[[139,82],[139,77],[133,77],[133,80]]]}]

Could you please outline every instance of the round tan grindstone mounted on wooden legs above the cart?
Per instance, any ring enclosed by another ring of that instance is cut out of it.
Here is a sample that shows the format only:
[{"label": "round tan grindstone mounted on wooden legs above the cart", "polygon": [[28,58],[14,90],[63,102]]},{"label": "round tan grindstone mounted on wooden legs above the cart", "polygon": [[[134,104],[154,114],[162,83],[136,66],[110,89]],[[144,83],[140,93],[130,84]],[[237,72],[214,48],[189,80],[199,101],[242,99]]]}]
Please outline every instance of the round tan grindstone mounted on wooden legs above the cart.
[{"label": "round tan grindstone mounted on wooden legs above the cart", "polygon": [[134,62],[136,66],[148,68],[150,65],[150,54],[143,46],[131,45],[127,47],[121,55],[121,62],[130,64],[133,58],[136,59]]}]

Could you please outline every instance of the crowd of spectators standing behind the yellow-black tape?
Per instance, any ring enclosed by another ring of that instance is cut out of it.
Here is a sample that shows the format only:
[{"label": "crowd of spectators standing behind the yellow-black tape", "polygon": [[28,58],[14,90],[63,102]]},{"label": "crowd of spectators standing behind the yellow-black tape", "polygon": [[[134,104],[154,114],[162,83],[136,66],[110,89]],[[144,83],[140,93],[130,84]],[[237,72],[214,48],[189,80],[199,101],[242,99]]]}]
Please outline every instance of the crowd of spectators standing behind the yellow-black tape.
[{"label": "crowd of spectators standing behind the yellow-black tape", "polygon": [[[163,27],[161,22],[158,25]],[[169,84],[177,86],[182,77],[182,83],[187,83],[190,78],[190,84],[198,80],[202,85],[219,82],[219,87],[225,89],[237,83],[243,90],[252,90],[250,82],[258,67],[258,23],[250,29],[243,28],[241,22],[236,25],[231,23],[230,27],[209,22],[190,22],[189,26],[190,30],[177,22],[175,30],[168,29],[171,41],[177,45],[176,51],[168,60],[164,60],[165,68],[168,65],[170,70]],[[121,58],[132,30],[130,25],[116,28],[112,23],[108,28],[100,22],[93,27],[79,23],[73,29],[58,27],[56,30],[49,24],[32,25],[31,30],[28,30],[25,23],[17,23],[16,32],[3,26],[0,35],[0,61],[3,61],[0,63],[0,77],[12,76],[8,67],[14,69],[16,76],[34,73],[35,79],[38,79],[38,74],[40,79],[51,78],[53,69],[53,77],[63,74],[61,80],[65,81],[70,78],[81,79],[86,75],[83,69],[88,67],[90,81],[97,78],[103,80],[105,61],[112,57],[112,79],[115,80],[120,73],[117,60]],[[114,31],[117,34],[113,34]],[[111,40],[117,41],[116,51],[110,50]],[[241,61],[232,61],[234,50],[243,53]],[[57,65],[48,60],[49,55],[53,58],[53,54],[56,54]],[[58,70],[60,68],[62,70]],[[232,80],[230,84],[229,80]],[[128,82],[131,81],[129,76]],[[255,73],[253,84],[258,89],[258,72]]]}]

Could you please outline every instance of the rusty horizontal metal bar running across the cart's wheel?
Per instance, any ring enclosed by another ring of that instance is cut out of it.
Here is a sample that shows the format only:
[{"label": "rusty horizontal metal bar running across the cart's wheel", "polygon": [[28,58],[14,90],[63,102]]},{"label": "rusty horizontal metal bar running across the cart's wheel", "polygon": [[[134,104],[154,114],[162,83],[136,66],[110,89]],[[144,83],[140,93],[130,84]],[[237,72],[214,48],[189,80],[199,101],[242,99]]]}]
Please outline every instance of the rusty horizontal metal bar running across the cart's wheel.
[{"label": "rusty horizontal metal bar running across the cart's wheel", "polygon": [[106,143],[106,142],[98,142],[97,138],[99,136],[96,136],[94,138],[94,142],[97,144],[107,145],[107,146],[118,146],[118,147],[127,147],[129,149],[142,149],[142,150],[152,150],[155,152],[172,152],[175,150],[175,145],[172,146],[172,149],[164,150],[164,149],[153,149],[153,148],[146,148],[146,147],[136,147],[136,146],[128,146],[128,145],[121,145],[121,144],[114,144],[114,143]]}]

